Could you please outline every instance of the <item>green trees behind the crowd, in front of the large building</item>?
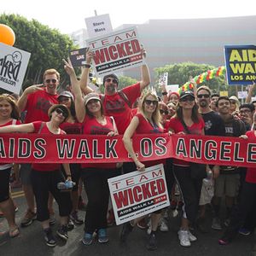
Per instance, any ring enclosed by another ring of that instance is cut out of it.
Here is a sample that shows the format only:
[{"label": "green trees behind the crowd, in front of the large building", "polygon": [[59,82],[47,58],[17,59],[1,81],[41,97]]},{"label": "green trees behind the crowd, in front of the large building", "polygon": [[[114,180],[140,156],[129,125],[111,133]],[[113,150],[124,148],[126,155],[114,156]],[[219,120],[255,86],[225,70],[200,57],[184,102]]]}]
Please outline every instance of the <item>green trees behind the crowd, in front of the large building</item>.
[{"label": "green trees behind the crowd, in front of the large building", "polygon": [[[160,74],[162,73],[168,73],[168,84],[179,84],[182,86],[189,81],[189,76],[195,77],[213,68],[216,67],[207,64],[196,64],[193,62],[183,62],[179,64],[166,65],[165,67],[157,67],[154,69],[157,73],[156,84],[158,84]],[[200,85],[207,85],[213,92],[228,90],[230,87],[227,86],[224,75],[214,77],[209,81],[199,84],[198,86]]]}]

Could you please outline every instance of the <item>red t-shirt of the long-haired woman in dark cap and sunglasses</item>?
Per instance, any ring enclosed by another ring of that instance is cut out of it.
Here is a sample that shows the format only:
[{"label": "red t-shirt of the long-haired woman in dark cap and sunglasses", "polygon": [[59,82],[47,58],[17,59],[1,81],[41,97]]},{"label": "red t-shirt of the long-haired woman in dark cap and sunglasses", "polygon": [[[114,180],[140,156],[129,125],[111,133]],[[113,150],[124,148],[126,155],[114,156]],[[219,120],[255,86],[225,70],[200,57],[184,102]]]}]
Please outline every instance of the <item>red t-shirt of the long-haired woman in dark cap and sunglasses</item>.
[{"label": "red t-shirt of the long-haired woman in dark cap and sunglasses", "polygon": [[[191,134],[198,134],[201,135],[202,131],[204,130],[205,127],[205,122],[203,119],[199,120],[199,123],[194,123],[191,126],[187,126],[188,130]],[[172,119],[170,119],[169,121],[169,128],[168,129],[172,129],[174,131],[174,133],[178,133],[183,131],[184,133],[186,133],[183,124],[181,123],[181,121],[175,117],[173,117]],[[183,160],[178,160],[178,159],[174,159],[173,160],[173,164],[176,166],[189,166],[189,162],[183,161]]]}]

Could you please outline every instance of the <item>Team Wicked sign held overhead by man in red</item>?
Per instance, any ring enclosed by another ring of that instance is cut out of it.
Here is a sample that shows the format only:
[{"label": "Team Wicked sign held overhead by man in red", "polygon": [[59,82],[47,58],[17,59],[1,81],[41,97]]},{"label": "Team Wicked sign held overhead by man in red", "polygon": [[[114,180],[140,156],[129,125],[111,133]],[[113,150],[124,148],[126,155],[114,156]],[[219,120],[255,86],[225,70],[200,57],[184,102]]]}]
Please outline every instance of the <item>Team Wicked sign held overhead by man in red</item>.
[{"label": "Team Wicked sign held overhead by man in red", "polygon": [[98,76],[121,72],[145,64],[137,28],[130,27],[86,40],[94,53],[94,71]]}]

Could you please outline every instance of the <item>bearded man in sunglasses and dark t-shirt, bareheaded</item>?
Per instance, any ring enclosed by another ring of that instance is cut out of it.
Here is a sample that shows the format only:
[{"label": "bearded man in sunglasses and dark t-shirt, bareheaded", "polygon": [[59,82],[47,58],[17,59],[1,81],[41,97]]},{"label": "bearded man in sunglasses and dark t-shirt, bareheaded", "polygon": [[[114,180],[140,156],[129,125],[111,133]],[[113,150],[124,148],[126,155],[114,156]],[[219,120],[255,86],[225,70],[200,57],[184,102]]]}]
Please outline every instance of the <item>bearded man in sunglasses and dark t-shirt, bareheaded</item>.
[{"label": "bearded man in sunglasses and dark t-shirt, bareheaded", "polygon": [[[196,101],[198,102],[199,113],[205,121],[205,135],[208,136],[225,136],[224,120],[219,116],[218,113],[210,108],[211,104],[211,90],[207,86],[201,86],[196,90]],[[210,165],[207,166],[207,172],[212,171],[213,178],[217,178],[219,175],[219,166]],[[201,190],[201,201],[200,201],[200,216],[197,219],[197,227],[202,233],[208,232],[206,226],[206,205],[209,201],[204,200],[207,197],[204,196],[206,193],[205,189],[207,183],[203,181]],[[212,224],[214,226],[214,224]]]}]

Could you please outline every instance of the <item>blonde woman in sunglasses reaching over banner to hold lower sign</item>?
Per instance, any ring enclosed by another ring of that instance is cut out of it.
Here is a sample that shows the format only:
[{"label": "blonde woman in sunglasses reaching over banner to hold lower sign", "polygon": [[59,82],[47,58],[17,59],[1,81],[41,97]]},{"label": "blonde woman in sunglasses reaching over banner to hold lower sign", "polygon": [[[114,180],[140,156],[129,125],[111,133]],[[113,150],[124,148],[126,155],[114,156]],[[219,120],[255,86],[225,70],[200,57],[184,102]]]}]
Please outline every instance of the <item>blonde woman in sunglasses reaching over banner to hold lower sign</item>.
[{"label": "blonde woman in sunglasses reaching over banner to hold lower sign", "polygon": [[[160,123],[160,103],[158,97],[152,93],[147,92],[140,101],[138,113],[131,119],[130,125],[127,127],[123,141],[127,152],[131,155],[132,160],[137,166],[137,170],[143,172],[145,167],[154,166],[160,163],[165,164],[166,160],[152,160],[141,162],[137,159],[131,143],[131,137],[137,134],[163,133],[164,128]],[[156,230],[161,218],[161,211],[154,212],[150,215],[151,218],[151,234],[148,239],[148,250],[155,250],[157,248]],[[135,223],[141,218],[136,219],[133,223],[126,223],[123,225],[121,232],[121,241],[125,241],[128,234],[131,232]]]}]

